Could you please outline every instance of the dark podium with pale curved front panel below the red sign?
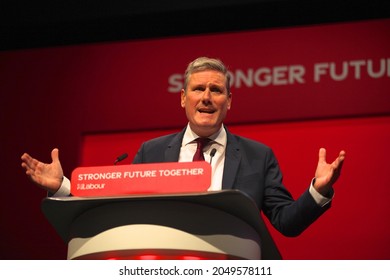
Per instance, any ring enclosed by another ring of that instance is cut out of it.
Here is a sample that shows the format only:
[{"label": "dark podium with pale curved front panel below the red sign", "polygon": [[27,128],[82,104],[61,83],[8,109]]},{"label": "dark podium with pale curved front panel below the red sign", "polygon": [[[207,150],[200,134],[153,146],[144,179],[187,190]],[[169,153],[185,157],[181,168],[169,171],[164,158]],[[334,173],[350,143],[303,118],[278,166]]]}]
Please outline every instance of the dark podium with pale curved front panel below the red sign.
[{"label": "dark podium with pale curved front panel below the red sign", "polygon": [[257,206],[238,190],[47,197],[67,259],[281,259]]}]

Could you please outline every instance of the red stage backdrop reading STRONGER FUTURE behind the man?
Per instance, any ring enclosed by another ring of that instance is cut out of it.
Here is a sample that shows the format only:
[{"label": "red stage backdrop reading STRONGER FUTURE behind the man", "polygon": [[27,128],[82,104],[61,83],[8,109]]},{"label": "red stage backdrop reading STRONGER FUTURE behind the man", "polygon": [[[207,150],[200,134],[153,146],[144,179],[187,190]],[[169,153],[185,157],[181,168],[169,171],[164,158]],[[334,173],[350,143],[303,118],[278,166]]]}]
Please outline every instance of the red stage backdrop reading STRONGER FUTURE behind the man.
[{"label": "red stage backdrop reading STRONGER FUTURE behind the man", "polygon": [[[320,146],[330,158],[347,150],[333,208],[301,237],[273,233],[284,256],[389,258],[388,34],[384,19],[1,52],[0,258],[66,256],[40,211],[46,193],[26,179],[21,154],[50,161],[58,147],[70,175],[80,164],[111,164],[141,140],[181,129],[186,119],[175,88],[200,55],[230,67],[227,124],[275,150],[294,196],[313,176]],[[130,132],[131,141],[117,132]],[[83,158],[91,135],[126,142]]]}]

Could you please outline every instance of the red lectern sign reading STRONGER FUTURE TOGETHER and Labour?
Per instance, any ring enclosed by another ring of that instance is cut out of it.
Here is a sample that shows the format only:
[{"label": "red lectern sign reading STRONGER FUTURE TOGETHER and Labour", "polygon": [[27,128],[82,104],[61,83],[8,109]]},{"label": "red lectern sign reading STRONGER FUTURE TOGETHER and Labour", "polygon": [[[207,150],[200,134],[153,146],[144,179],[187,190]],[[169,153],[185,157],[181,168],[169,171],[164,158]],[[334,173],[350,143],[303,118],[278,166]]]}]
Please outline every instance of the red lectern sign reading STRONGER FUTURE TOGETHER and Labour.
[{"label": "red lectern sign reading STRONGER FUTURE TOGETHER and Labour", "polygon": [[94,166],[76,168],[71,177],[73,196],[116,196],[204,192],[211,184],[205,161]]}]

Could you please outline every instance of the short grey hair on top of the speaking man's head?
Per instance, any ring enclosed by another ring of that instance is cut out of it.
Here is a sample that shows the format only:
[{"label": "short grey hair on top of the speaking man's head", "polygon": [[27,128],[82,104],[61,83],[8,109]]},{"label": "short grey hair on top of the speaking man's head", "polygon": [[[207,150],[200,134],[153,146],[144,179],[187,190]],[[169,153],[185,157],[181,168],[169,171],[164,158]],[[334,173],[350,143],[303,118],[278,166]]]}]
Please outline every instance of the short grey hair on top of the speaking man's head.
[{"label": "short grey hair on top of the speaking man's head", "polygon": [[230,95],[230,74],[225,64],[217,58],[198,57],[194,61],[190,62],[184,73],[184,91],[187,90],[190,75],[196,72],[205,70],[215,70],[225,75],[226,77],[226,89],[228,95]]}]

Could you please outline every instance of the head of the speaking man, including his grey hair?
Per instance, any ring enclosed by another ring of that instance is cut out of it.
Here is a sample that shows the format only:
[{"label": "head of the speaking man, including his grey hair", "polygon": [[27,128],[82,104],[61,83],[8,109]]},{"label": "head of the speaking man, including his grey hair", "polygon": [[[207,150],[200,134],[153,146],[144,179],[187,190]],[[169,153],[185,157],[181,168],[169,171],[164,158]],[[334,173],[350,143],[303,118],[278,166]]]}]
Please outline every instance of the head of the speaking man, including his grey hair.
[{"label": "head of the speaking man, including his grey hair", "polygon": [[207,137],[217,132],[231,106],[230,76],[218,59],[200,57],[185,72],[181,106],[191,129]]}]

